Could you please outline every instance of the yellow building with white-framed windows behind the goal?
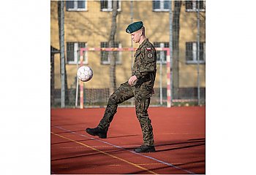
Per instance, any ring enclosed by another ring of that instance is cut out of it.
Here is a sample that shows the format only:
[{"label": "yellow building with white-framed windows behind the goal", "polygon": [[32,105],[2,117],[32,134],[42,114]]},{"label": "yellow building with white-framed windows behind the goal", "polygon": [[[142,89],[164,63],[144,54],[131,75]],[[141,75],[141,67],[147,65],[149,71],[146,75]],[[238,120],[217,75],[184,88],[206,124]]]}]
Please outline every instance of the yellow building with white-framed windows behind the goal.
[{"label": "yellow building with white-framed windows behind the goal", "polygon": [[[180,3],[180,4],[178,4]],[[131,23],[142,20],[146,36],[155,47],[169,47],[169,1],[118,1],[116,18],[116,47],[138,47],[132,45],[125,29]],[[176,14],[177,6],[179,15]],[[173,32],[178,26],[178,56],[173,57],[173,86],[176,88],[197,88],[197,2],[173,1]],[[58,1],[50,2],[50,46],[59,50]],[[75,88],[77,50],[79,47],[108,47],[112,18],[112,1],[65,1],[64,43],[67,69],[67,87]],[[178,25],[177,25],[178,24]],[[205,88],[205,1],[200,2],[200,88]],[[173,45],[176,42],[173,42]],[[127,81],[131,75],[132,53],[118,52],[116,84]],[[162,87],[166,88],[166,54],[162,59]],[[159,60],[160,58],[158,58]],[[104,89],[110,87],[108,53],[89,51],[85,53],[85,65],[94,71],[94,77],[86,88]],[[160,71],[158,63],[154,88],[159,88]],[[54,56],[54,88],[61,88],[60,55]]]}]

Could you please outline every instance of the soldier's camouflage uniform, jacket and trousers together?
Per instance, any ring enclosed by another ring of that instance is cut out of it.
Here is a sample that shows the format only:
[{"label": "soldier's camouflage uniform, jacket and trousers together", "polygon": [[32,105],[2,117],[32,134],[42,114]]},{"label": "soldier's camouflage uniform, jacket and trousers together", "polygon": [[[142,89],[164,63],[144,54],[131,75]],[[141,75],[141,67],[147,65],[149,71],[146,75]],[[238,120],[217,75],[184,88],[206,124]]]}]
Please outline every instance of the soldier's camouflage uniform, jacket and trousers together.
[{"label": "soldier's camouflage uniform, jacket and trousers together", "polygon": [[110,96],[105,114],[99,122],[98,128],[108,131],[111,121],[118,104],[127,101],[129,98],[135,97],[136,115],[140,122],[143,132],[143,141],[147,146],[154,146],[153,128],[151,120],[148,117],[148,106],[150,98],[154,93],[154,80],[157,71],[157,53],[153,44],[145,39],[135,52],[135,61],[132,75],[138,78],[135,85],[129,85],[124,82]]}]

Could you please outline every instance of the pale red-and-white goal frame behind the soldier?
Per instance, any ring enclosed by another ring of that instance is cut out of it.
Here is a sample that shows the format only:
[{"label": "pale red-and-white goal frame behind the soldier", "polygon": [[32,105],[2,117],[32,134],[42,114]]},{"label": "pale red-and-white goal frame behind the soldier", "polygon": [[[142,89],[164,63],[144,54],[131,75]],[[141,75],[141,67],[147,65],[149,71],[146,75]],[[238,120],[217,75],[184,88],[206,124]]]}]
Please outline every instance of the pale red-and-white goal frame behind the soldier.
[{"label": "pale red-and-white goal frame behind the soldier", "polygon": [[[167,51],[167,57],[166,57],[166,89],[167,89],[167,107],[172,106],[172,96],[171,96],[171,70],[170,70],[170,48],[169,47],[156,47],[155,48],[157,51]],[[132,48],[132,47],[123,47],[123,48],[117,48],[117,47],[104,47],[104,48],[96,48],[96,47],[85,47],[85,48],[80,48],[80,66],[83,66],[83,52],[86,51],[121,51],[121,52],[131,52],[131,51],[136,51],[137,48]],[[80,109],[83,109],[84,104],[84,96],[83,96],[83,89],[84,89],[84,82],[82,81],[77,81],[79,82],[80,85]],[[78,88],[78,85],[77,85]],[[78,90],[78,89],[77,89]],[[78,101],[78,95],[76,95],[76,101]]]}]

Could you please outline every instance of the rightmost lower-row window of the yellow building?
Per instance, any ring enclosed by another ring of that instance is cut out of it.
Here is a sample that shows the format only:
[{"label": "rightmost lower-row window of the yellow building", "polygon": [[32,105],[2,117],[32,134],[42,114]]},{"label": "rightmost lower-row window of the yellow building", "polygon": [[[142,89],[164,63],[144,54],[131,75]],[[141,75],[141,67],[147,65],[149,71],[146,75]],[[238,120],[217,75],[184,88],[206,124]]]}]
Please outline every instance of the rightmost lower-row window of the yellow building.
[{"label": "rightmost lower-row window of the yellow building", "polygon": [[[197,63],[197,42],[186,42],[187,63]],[[206,43],[200,42],[199,63],[206,63]]]}]

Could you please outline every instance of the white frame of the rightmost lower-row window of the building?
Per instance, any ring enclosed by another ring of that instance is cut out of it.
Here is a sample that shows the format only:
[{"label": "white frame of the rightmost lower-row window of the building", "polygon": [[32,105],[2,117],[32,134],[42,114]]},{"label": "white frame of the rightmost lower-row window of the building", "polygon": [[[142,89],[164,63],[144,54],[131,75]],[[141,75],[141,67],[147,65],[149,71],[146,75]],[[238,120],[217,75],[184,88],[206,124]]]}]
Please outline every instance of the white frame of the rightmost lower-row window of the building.
[{"label": "white frame of the rightmost lower-row window of the building", "polygon": [[[187,59],[187,52],[188,52],[187,43],[192,43],[192,61]],[[206,42],[200,42],[200,44],[203,44],[203,60],[199,60],[199,63],[204,64],[206,63]],[[200,53],[199,53],[199,57],[200,57]],[[187,64],[197,63],[197,42],[186,42],[185,59]]]}]

